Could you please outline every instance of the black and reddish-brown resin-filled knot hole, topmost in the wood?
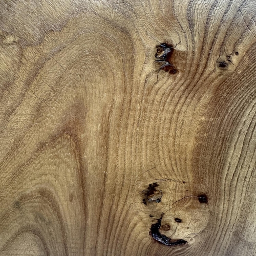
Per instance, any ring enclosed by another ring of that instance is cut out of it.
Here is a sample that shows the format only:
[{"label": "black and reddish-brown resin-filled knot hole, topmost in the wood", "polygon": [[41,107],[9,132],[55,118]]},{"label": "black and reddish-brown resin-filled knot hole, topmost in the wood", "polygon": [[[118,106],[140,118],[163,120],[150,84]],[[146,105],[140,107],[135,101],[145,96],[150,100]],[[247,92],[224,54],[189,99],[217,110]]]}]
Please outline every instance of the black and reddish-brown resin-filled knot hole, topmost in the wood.
[{"label": "black and reddish-brown resin-filled knot hole, topmost in the wood", "polygon": [[155,60],[155,62],[161,65],[158,70],[158,73],[160,70],[164,70],[165,72],[169,72],[170,74],[176,74],[178,71],[174,67],[174,64],[171,61],[171,57],[174,52],[173,45],[163,43],[157,46],[156,48],[157,48],[157,52],[155,54],[155,57],[157,60]]}]

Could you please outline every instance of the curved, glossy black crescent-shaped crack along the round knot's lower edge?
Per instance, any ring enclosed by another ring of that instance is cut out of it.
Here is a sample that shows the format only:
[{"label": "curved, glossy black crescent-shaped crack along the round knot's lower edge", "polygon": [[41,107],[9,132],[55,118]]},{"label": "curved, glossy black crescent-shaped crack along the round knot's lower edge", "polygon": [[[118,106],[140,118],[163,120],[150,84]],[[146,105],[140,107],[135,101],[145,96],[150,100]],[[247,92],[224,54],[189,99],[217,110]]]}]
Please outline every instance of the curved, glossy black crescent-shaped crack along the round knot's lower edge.
[{"label": "curved, glossy black crescent-shaped crack along the round knot's lower edge", "polygon": [[161,234],[159,232],[159,228],[161,227],[162,218],[163,218],[163,214],[161,215],[160,219],[157,220],[157,223],[152,224],[152,226],[151,226],[150,234],[153,237],[153,239],[160,242],[161,244],[169,245],[169,246],[186,244],[187,241],[185,241],[183,239],[172,241],[172,239],[166,237],[164,234]]}]

